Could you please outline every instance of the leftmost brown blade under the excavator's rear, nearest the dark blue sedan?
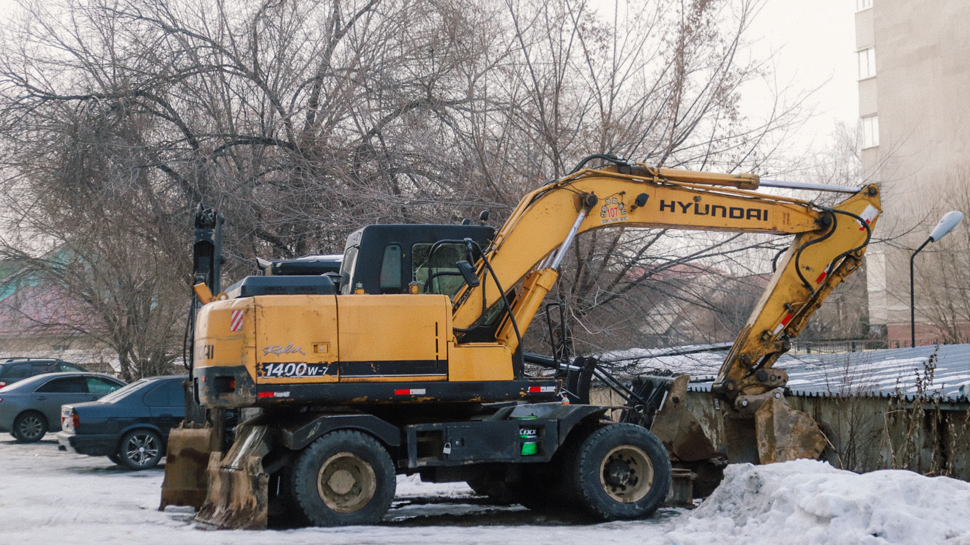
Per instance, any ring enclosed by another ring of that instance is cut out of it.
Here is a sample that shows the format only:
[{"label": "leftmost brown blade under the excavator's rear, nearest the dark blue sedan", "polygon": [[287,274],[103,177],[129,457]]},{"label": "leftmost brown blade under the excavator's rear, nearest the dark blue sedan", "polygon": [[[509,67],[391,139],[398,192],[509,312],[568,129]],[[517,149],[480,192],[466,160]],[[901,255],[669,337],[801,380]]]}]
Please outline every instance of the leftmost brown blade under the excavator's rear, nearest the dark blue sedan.
[{"label": "leftmost brown blade under the excavator's rear, nearest the dark blue sedan", "polygon": [[182,422],[169,433],[159,511],[168,505],[191,505],[198,510],[206,500],[209,488],[206,468],[210,453],[217,450],[219,437],[208,425],[197,428],[189,423],[187,426]]}]

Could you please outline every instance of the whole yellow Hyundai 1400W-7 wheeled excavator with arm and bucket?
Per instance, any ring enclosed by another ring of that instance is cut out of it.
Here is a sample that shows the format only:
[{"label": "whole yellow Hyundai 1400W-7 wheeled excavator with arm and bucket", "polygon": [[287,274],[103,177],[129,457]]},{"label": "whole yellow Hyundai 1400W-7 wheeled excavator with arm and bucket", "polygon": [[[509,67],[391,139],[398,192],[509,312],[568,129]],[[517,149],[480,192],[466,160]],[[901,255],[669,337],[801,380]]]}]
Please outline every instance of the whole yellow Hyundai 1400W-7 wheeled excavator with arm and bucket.
[{"label": "whole yellow Hyundai 1400W-7 wheeled excavator with arm and bucket", "polygon": [[[606,165],[584,168],[591,160]],[[764,185],[850,196],[825,207],[756,191]],[[231,446],[219,425],[173,431],[162,508],[193,504],[218,528],[266,528],[277,516],[371,524],[396,474],[419,473],[532,509],[649,515],[667,497],[671,461],[718,454],[683,407],[688,377],[624,384],[590,358],[522,350],[574,238],[621,226],[794,236],[713,393],[729,461],[818,458],[824,436],[785,402],[788,375],[773,364],[859,268],[879,213],[875,185],[597,155],[526,195],[498,232],[484,221],[372,225],[348,237],[339,272],[248,276],[214,295],[201,281],[190,391],[210,411],[258,414]],[[593,375],[629,400],[623,422],[589,403]]]}]

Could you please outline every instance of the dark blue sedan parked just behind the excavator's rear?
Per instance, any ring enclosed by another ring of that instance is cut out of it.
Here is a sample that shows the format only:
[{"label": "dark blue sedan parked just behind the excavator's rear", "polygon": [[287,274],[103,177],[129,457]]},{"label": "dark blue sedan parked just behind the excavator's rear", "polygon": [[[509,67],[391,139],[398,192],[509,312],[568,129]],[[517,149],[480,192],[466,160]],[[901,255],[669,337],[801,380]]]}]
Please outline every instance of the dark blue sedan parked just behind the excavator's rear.
[{"label": "dark blue sedan parked just behind the excavator's rear", "polygon": [[136,380],[99,401],[61,407],[61,450],[107,456],[129,469],[148,469],[165,456],[169,432],[185,418],[181,376]]}]

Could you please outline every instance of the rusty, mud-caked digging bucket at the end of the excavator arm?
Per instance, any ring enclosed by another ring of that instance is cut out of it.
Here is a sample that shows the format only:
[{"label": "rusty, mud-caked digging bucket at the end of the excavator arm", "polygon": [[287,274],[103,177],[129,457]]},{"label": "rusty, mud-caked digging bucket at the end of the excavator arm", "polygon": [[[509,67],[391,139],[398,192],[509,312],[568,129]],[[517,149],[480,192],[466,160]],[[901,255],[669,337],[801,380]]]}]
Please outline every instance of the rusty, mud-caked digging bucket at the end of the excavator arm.
[{"label": "rusty, mud-caked digging bucket at the end of the excavator arm", "polygon": [[761,464],[798,458],[818,460],[825,437],[812,417],[772,397],[755,413],[755,434]]}]

